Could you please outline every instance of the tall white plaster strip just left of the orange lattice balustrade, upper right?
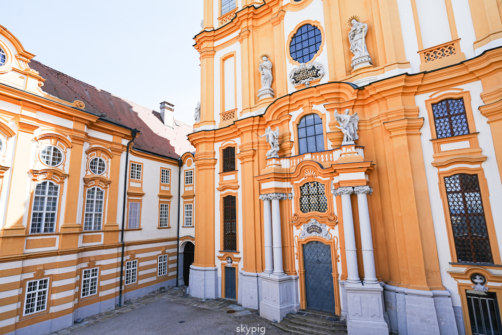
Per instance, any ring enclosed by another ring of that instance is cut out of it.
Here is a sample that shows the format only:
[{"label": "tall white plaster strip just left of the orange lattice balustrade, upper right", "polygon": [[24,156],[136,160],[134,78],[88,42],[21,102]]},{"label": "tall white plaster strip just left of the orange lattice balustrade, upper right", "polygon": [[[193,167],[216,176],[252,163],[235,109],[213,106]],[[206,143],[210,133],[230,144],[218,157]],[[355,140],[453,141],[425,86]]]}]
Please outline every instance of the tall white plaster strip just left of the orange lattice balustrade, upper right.
[{"label": "tall white plaster strip just left of the orange lattice balustrade, upper right", "polygon": [[[403,44],[405,47],[406,60],[410,62],[412,72],[420,72],[420,55],[418,54],[417,31],[413,19],[413,9],[410,0],[397,0],[399,20],[403,32]],[[467,0],[466,0],[467,1]]]}]

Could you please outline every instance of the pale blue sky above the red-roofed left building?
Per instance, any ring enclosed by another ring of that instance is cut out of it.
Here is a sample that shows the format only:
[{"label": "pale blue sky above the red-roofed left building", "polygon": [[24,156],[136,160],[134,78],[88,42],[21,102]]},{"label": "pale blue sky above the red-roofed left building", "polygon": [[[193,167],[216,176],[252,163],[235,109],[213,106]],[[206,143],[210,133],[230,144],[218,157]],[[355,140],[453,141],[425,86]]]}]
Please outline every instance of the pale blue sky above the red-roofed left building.
[{"label": "pale blue sky above the red-roofed left building", "polygon": [[193,124],[203,0],[0,0],[0,25],[36,60]]}]

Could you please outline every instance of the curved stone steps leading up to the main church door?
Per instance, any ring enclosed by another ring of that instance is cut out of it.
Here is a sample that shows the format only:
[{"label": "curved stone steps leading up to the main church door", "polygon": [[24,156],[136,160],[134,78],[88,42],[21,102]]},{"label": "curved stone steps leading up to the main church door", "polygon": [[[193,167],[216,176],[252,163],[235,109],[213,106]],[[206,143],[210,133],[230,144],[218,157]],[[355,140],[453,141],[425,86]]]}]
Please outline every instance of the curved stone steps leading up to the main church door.
[{"label": "curved stone steps leading up to the main church door", "polygon": [[347,325],[339,316],[303,310],[289,313],[276,327],[296,335],[347,334]]}]

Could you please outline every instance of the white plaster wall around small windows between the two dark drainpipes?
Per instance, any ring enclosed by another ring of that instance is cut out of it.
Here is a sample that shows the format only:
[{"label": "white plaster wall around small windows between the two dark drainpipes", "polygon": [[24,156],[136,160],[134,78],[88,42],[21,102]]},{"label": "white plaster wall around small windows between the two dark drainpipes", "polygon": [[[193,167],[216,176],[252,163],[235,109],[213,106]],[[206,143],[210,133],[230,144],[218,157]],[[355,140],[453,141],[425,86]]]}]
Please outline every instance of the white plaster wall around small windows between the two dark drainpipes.
[{"label": "white plaster wall around small windows between the two dark drainpipes", "polygon": [[[178,166],[161,163],[154,160],[149,160],[135,155],[129,156],[129,160],[143,163],[143,195],[141,205],[141,230],[126,231],[124,239],[126,241],[140,241],[160,239],[167,237],[176,237],[177,228],[175,227],[178,210]],[[130,164],[130,163],[128,163]],[[122,165],[123,166],[123,165]],[[158,229],[159,227],[159,186],[160,186],[160,169],[171,169],[171,198],[169,205],[170,229]],[[122,171],[123,173],[123,171]],[[173,186],[174,185],[174,186]],[[123,185],[122,185],[123,186]],[[119,207],[120,209],[122,207]],[[127,209],[126,209],[127,210]],[[126,219],[127,219],[126,212]],[[126,221],[127,228],[127,221]]]}]

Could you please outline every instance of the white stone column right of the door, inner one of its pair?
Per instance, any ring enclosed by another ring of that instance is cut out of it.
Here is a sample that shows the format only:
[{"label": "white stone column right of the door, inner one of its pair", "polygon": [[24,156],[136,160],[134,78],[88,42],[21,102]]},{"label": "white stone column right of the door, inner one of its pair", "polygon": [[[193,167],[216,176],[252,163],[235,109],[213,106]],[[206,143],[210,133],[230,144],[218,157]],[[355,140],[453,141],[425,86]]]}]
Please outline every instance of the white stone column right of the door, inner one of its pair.
[{"label": "white stone column right of the door, inner one of its pair", "polygon": [[345,259],[347,261],[347,283],[360,284],[359,269],[357,267],[357,250],[355,247],[354,219],[352,217],[352,203],[350,194],[353,187],[339,187],[333,190],[334,195],[342,198],[343,238],[345,240]]}]

